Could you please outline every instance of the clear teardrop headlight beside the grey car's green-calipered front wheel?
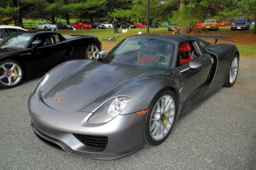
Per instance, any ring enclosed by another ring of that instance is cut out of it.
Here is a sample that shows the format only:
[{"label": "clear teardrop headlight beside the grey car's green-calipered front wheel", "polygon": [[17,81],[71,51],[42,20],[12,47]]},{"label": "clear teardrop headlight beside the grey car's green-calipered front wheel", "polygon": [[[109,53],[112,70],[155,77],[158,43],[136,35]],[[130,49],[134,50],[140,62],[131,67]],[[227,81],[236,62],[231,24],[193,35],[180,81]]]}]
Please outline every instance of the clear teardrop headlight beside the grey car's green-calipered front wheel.
[{"label": "clear teardrop headlight beside the grey car's green-calipered front wheel", "polygon": [[109,122],[119,115],[128,106],[129,102],[130,98],[126,96],[111,99],[95,111],[88,122],[92,124]]}]

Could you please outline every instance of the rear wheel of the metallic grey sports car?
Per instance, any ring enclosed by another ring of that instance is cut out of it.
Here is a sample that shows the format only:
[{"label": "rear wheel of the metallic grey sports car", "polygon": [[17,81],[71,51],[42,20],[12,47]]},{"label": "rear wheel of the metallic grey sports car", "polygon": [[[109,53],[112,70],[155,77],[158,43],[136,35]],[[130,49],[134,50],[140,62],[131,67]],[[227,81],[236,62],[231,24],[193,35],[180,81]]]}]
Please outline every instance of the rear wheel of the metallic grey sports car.
[{"label": "rear wheel of the metallic grey sports car", "polygon": [[239,68],[239,56],[235,54],[229,66],[227,81],[224,84],[225,87],[232,87],[234,85],[237,78],[238,68]]}]

